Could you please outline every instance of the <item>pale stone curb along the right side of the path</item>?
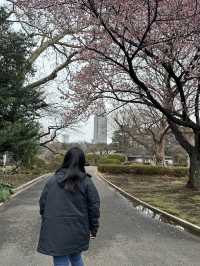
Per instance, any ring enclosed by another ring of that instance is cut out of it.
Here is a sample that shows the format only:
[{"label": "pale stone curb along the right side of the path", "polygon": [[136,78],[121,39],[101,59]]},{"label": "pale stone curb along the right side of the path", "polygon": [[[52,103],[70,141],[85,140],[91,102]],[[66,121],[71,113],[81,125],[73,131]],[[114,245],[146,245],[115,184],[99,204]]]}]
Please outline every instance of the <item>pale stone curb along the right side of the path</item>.
[{"label": "pale stone curb along the right side of the path", "polygon": [[98,176],[105,181],[107,184],[109,184],[111,187],[115,188],[117,191],[119,191],[124,197],[128,198],[131,201],[134,201],[135,203],[138,203],[138,205],[142,205],[143,207],[150,209],[155,214],[162,215],[162,217],[167,218],[169,221],[173,222],[176,225],[182,226],[184,229],[189,231],[192,234],[200,236],[200,227],[192,224],[184,219],[181,219],[175,215],[172,215],[166,211],[163,211],[159,208],[156,208],[136,197],[129,194],[128,192],[124,191],[123,189],[119,188],[118,186],[114,185],[112,182],[108,181],[101,173],[98,172]]}]

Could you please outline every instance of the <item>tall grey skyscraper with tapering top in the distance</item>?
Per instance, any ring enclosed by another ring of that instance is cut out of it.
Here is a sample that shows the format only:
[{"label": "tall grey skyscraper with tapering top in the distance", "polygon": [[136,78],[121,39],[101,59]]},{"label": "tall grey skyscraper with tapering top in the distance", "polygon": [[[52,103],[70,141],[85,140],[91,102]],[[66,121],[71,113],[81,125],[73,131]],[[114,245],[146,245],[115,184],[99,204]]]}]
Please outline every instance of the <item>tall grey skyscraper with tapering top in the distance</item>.
[{"label": "tall grey skyscraper with tapering top in the distance", "polygon": [[94,144],[107,144],[107,116],[103,100],[100,101],[94,116]]}]

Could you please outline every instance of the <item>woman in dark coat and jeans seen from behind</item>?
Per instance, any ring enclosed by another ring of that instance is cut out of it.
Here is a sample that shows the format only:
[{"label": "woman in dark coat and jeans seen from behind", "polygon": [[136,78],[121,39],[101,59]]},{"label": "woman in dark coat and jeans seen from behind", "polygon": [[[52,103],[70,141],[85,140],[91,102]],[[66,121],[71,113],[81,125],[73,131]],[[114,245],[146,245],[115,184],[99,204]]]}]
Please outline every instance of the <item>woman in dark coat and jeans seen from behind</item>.
[{"label": "woman in dark coat and jeans seen from behind", "polygon": [[99,227],[100,199],[85,171],[85,155],[70,149],[40,197],[42,225],[38,252],[53,256],[54,266],[83,266],[81,252]]}]

